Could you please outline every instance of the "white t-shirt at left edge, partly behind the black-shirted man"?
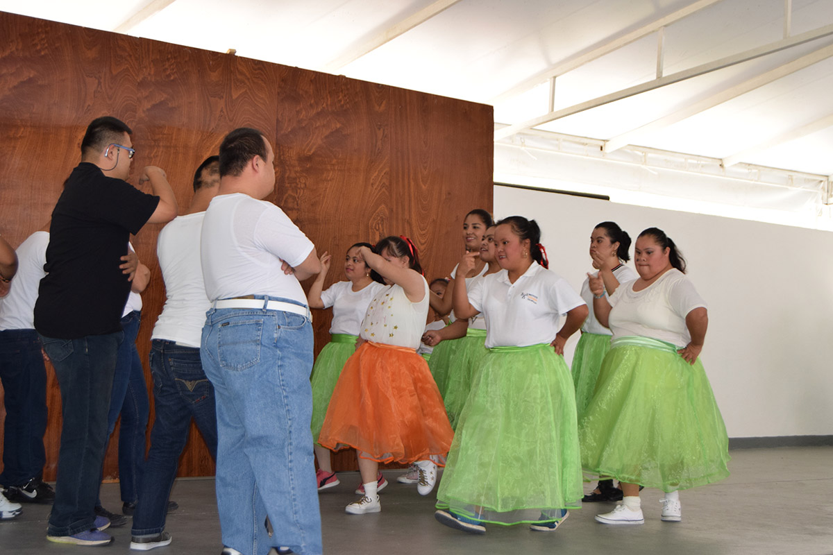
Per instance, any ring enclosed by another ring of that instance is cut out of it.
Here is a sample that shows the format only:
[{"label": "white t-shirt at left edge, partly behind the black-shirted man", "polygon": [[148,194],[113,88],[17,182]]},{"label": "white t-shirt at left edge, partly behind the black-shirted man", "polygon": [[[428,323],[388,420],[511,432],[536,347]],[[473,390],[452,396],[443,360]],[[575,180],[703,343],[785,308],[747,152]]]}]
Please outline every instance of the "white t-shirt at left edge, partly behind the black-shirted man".
[{"label": "white t-shirt at left edge, partly behind the black-shirted man", "polygon": [[35,231],[17,247],[17,274],[8,295],[0,303],[0,330],[34,330],[34,310],[37,288],[47,262],[49,233]]}]

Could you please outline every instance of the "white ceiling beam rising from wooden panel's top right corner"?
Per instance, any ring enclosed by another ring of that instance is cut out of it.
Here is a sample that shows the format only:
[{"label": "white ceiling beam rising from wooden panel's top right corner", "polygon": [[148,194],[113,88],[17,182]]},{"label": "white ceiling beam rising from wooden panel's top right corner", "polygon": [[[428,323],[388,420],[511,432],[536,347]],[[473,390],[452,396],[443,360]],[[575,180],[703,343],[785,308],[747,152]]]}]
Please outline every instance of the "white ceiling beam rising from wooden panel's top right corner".
[{"label": "white ceiling beam rising from wooden panel's top right corner", "polygon": [[564,75],[566,72],[571,72],[572,70],[576,69],[577,67],[581,67],[586,63],[592,62],[597,58],[605,56],[606,54],[610,54],[618,50],[621,47],[625,47],[631,42],[635,42],[642,37],[646,37],[650,35],[652,32],[659,31],[662,27],[666,27],[671,25],[673,22],[680,21],[683,17],[688,17],[692,13],[699,12],[701,9],[705,7],[709,7],[712,4],[716,4],[717,2],[721,2],[721,0],[698,0],[697,2],[693,2],[686,7],[683,7],[676,12],[670,13],[665,17],[660,17],[656,21],[650,22],[647,25],[643,25],[639,27],[635,31],[631,31],[622,35],[621,37],[615,38],[610,42],[606,42],[601,46],[595,47],[588,52],[584,52],[583,54],[577,54],[576,56],[567,58],[562,62],[558,62],[556,65],[547,67],[544,71],[537,73],[536,75],[525,79],[524,81],[518,83],[511,89],[501,92],[501,94],[497,95],[496,97],[491,98],[487,104],[491,104],[494,106],[495,104],[502,102],[510,97],[515,97],[523,92],[530,90],[532,87],[536,87],[540,85],[542,82],[546,82],[551,77],[558,77],[560,75]]}]

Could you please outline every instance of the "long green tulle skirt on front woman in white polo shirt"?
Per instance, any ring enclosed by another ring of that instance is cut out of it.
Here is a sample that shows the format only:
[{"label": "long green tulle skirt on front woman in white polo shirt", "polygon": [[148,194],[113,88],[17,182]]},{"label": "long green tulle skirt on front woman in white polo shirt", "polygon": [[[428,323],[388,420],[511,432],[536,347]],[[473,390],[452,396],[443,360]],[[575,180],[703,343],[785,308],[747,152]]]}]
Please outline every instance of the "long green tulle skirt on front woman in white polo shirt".
[{"label": "long green tulle skirt on front woman in white polo shirt", "polygon": [[481,522],[551,522],[579,507],[581,460],[570,370],[548,344],[490,349],[476,373],[437,508]]}]

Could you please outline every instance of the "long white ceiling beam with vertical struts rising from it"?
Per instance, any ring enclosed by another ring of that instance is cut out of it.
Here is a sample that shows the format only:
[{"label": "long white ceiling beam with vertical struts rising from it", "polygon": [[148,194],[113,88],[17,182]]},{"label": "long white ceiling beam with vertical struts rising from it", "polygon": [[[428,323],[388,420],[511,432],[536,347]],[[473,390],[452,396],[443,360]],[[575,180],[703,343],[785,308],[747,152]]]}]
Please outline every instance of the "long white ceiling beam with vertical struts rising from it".
[{"label": "long white ceiling beam with vertical struts rising from it", "polygon": [[653,91],[654,89],[660,87],[667,87],[668,85],[672,85],[676,82],[681,82],[685,81],[686,79],[691,79],[692,77],[705,75],[709,72],[715,72],[718,69],[723,69],[724,67],[730,67],[739,63],[748,62],[750,60],[754,60],[757,57],[766,56],[775,52],[781,52],[781,50],[785,50],[786,48],[795,47],[800,44],[804,44],[805,42],[814,41],[817,38],[829,37],[831,35],[833,35],[833,25],[826,25],[825,27],[819,27],[818,29],[813,29],[812,31],[803,32],[800,35],[796,35],[795,37],[785,38],[777,42],[765,44],[762,47],[752,48],[751,50],[747,50],[746,52],[741,52],[739,54],[734,54],[732,56],[721,58],[720,60],[716,60],[715,62],[704,63],[700,66],[691,67],[681,72],[672,73],[671,75],[666,75],[665,77],[654,79],[653,81],[641,83],[633,87],[627,87],[626,89],[622,89],[621,91],[611,92],[601,97],[596,97],[585,102],[580,102],[571,107],[561,108],[560,110],[556,111],[550,111],[542,116],[533,117],[530,120],[522,121],[521,123],[516,123],[511,126],[506,126],[502,129],[495,131],[495,141],[500,141],[501,139],[504,139],[507,136],[512,136],[516,133],[519,133],[526,129],[530,129],[532,127],[544,125],[545,123],[549,123],[550,121],[556,121],[558,119],[561,119],[562,117],[572,116],[573,114],[577,114],[581,111],[591,110],[592,108],[604,106],[605,104],[609,104],[610,102],[616,102],[617,100],[622,100],[623,98],[633,97],[635,95],[641,94],[642,92]]}]

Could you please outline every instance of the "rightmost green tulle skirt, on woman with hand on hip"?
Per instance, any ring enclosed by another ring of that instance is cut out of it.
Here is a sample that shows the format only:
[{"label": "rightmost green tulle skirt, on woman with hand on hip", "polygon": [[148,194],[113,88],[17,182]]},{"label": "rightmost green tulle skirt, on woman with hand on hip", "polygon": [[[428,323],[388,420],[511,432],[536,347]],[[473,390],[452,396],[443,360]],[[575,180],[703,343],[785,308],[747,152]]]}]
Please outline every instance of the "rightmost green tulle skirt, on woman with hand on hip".
[{"label": "rightmost green tulle skirt, on woman with hand on hip", "polygon": [[656,339],[613,342],[579,423],[589,473],[669,492],[729,475],[729,439],[700,359]]}]

